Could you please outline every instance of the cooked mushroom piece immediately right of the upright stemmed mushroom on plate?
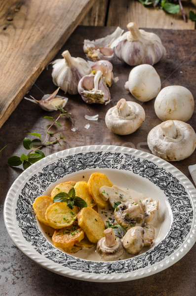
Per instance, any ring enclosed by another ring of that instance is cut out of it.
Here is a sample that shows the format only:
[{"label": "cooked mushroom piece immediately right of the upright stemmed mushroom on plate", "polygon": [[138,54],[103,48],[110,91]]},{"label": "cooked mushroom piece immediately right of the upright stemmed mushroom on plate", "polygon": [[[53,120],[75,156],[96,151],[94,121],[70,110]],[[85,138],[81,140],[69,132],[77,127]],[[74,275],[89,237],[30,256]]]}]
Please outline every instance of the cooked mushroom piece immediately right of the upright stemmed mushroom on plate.
[{"label": "cooked mushroom piece immediately right of the upright stemmed mushroom on plate", "polygon": [[135,226],[129,229],[122,239],[123,247],[131,255],[137,255],[144,247],[144,229]]}]

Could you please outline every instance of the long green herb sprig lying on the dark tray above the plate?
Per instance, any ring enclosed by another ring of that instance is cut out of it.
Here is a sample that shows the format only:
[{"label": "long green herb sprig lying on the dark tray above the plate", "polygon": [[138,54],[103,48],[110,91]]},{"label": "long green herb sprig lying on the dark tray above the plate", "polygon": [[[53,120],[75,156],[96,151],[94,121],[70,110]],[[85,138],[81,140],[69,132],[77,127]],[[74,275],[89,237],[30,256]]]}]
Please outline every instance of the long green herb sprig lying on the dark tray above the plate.
[{"label": "long green herb sprig lying on the dark tray above the plate", "polygon": [[[41,148],[48,147],[55,144],[58,144],[61,146],[59,142],[65,137],[62,137],[61,134],[59,134],[58,137],[54,136],[54,134],[50,132],[50,129],[55,124],[61,127],[61,124],[58,122],[59,118],[62,116],[67,116],[68,118],[70,118],[68,114],[71,114],[71,113],[68,113],[62,107],[58,107],[58,106],[55,106],[55,107],[58,108],[58,110],[60,111],[56,119],[54,119],[52,116],[43,117],[44,119],[52,120],[52,123],[50,124],[48,129],[45,131],[46,132],[45,139],[42,141],[41,135],[39,133],[36,133],[36,132],[28,133],[28,135],[35,136],[37,137],[37,139],[30,140],[29,138],[25,138],[23,140],[23,147],[26,150],[29,150],[29,153],[27,154],[22,153],[21,156],[14,155],[9,157],[7,163],[10,166],[19,166],[22,164],[24,170],[26,170],[30,165],[32,165],[33,163],[45,157],[45,154],[40,150]],[[48,140],[49,137],[53,137],[55,140],[49,141]]]}]

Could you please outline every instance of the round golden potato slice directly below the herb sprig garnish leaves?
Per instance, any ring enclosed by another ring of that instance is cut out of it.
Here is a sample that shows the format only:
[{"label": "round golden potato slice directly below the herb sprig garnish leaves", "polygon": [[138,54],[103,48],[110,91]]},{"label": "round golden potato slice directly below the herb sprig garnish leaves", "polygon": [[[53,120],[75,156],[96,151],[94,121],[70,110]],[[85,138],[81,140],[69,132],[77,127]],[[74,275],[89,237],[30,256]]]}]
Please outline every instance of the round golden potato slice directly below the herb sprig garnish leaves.
[{"label": "round golden potato slice directly below the herb sprig garnish leaves", "polygon": [[74,223],[78,216],[78,207],[73,207],[71,210],[67,207],[66,202],[54,202],[46,210],[46,221],[49,226],[60,229],[70,226]]}]

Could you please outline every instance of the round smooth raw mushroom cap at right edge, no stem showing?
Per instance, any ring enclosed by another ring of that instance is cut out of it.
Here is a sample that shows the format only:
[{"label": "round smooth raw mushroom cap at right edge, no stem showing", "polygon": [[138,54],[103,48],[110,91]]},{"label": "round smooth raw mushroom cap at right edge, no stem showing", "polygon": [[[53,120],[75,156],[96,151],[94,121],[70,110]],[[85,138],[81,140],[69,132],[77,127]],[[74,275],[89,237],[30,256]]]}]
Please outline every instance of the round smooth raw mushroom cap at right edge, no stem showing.
[{"label": "round smooth raw mushroom cap at right edge, no stem showing", "polygon": [[194,112],[194,97],[184,86],[164,87],[155,100],[155,112],[162,121],[176,119],[188,121]]}]

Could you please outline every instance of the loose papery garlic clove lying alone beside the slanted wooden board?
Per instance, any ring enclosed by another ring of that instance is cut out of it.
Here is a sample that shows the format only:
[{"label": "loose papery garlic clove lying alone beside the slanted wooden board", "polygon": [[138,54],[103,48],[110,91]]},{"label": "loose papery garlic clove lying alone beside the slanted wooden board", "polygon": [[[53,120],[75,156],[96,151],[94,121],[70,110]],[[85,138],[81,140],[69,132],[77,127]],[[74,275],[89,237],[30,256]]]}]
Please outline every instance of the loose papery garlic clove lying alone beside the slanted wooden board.
[{"label": "loose papery garlic clove lying alone beside the slanted wooden board", "polygon": [[24,99],[38,104],[45,111],[56,111],[58,110],[57,107],[65,107],[68,101],[68,98],[57,95],[59,89],[60,87],[57,88],[57,90],[55,90],[51,95],[44,95],[40,101],[36,100],[32,96],[30,96],[32,99],[26,97],[24,97]]}]

